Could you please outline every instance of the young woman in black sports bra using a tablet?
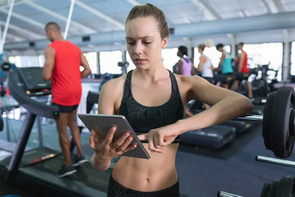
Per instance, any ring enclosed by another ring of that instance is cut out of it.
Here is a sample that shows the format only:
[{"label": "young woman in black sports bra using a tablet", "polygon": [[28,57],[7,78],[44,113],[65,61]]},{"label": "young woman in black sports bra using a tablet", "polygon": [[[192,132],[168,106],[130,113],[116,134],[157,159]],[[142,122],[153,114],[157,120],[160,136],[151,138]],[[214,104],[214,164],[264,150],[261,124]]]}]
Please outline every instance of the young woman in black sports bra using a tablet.
[{"label": "young woman in black sports bra using a tablet", "polygon": [[[221,124],[253,109],[252,102],[235,92],[214,86],[202,77],[173,74],[161,61],[168,44],[169,28],[164,13],[152,4],[134,6],[126,20],[127,50],[136,69],[108,81],[98,101],[99,114],[124,115],[140,134],[149,160],[121,157],[110,177],[108,197],[179,197],[175,158],[179,135]],[[212,107],[184,119],[184,106],[197,99]],[[95,140],[91,164],[107,170],[111,159],[134,149],[132,136],[112,141],[113,127],[106,140]]]}]

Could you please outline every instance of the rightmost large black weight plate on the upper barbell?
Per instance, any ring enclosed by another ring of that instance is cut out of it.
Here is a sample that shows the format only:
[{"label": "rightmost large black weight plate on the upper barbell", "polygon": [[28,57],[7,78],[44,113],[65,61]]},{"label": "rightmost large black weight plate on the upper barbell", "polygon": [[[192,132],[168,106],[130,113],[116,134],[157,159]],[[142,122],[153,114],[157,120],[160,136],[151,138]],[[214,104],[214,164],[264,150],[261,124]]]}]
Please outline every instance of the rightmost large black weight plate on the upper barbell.
[{"label": "rightmost large black weight plate on the upper barbell", "polygon": [[270,127],[271,150],[277,158],[289,158],[293,151],[295,137],[294,131],[290,135],[289,122],[294,105],[294,88],[280,87],[274,97]]}]

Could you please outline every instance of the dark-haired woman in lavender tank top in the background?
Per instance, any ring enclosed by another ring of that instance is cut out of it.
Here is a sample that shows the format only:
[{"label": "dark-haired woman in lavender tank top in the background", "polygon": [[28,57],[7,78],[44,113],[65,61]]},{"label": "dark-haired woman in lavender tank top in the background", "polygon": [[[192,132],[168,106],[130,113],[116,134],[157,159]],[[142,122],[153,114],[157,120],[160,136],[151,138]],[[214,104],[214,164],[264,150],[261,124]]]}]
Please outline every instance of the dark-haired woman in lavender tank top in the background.
[{"label": "dark-haired woman in lavender tank top in the background", "polygon": [[[177,73],[185,76],[194,76],[195,66],[193,65],[192,61],[184,58],[184,56],[187,57],[187,48],[185,46],[178,47],[177,56],[180,58],[180,60],[177,62]],[[194,114],[190,112],[189,108],[186,106],[185,117],[189,118],[193,115]]]}]

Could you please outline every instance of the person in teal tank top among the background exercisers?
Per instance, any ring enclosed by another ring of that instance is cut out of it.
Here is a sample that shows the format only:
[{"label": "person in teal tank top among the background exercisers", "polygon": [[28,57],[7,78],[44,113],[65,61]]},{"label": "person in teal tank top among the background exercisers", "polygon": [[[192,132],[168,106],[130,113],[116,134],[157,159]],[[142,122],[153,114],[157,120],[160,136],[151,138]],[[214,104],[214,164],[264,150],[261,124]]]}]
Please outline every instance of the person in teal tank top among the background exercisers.
[{"label": "person in teal tank top among the background exercisers", "polygon": [[[217,51],[222,53],[217,69],[221,68],[222,74],[232,75],[234,72],[233,67],[232,67],[232,56],[230,53],[226,52],[223,49],[223,47],[224,47],[223,44],[216,45]],[[225,88],[225,89],[229,89],[229,84],[228,83],[221,83],[220,87]]]}]

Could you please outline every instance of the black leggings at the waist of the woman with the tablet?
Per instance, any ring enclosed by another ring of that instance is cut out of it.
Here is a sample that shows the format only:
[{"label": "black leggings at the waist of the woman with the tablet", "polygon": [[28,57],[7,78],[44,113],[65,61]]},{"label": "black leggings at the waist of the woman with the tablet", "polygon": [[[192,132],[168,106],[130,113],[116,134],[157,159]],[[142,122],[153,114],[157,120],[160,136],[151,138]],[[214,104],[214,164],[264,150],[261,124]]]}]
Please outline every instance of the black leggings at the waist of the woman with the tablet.
[{"label": "black leggings at the waist of the woman with the tablet", "polygon": [[111,175],[108,197],[179,197],[179,180],[173,186],[155,191],[155,192],[139,192],[131,190],[119,184]]}]

